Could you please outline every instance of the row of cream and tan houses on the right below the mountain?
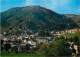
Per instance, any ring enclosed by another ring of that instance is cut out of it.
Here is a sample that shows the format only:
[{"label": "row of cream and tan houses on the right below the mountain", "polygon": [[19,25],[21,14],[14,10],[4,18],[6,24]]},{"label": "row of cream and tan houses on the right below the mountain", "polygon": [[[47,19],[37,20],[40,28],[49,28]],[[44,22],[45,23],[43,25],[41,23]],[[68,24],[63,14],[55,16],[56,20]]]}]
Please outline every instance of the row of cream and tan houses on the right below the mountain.
[{"label": "row of cream and tan houses on the right below the mountain", "polygon": [[59,37],[59,36],[63,35],[66,38],[67,34],[76,33],[76,32],[80,32],[80,29],[79,28],[76,28],[76,29],[66,29],[66,30],[56,31],[56,32],[55,31],[51,31],[51,34],[54,37]]}]

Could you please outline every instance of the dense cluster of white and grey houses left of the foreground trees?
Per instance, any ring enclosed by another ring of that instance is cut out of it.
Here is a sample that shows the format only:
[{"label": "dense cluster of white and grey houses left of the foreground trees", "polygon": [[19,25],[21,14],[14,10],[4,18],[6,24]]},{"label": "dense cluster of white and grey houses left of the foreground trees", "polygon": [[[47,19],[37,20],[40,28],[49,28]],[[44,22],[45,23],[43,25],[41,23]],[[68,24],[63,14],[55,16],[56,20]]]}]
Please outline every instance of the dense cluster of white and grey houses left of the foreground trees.
[{"label": "dense cluster of white and grey houses left of the foreground trees", "polygon": [[[34,34],[31,35],[10,35],[4,36],[0,34],[1,50],[9,51],[9,48],[16,49],[17,51],[25,51],[26,49],[35,49],[40,43],[47,43],[50,37],[38,37]],[[29,47],[28,47],[29,45]],[[27,48],[28,47],[28,48]]]}]

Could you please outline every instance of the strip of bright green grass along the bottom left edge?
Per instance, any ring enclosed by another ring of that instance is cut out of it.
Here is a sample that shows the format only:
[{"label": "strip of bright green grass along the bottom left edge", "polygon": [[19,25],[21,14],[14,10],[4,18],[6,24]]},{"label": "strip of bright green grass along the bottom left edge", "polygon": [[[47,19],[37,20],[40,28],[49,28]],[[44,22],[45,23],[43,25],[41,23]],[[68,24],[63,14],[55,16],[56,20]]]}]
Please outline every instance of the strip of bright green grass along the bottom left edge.
[{"label": "strip of bright green grass along the bottom left edge", "polygon": [[0,57],[45,57],[45,56],[27,53],[1,53]]}]

